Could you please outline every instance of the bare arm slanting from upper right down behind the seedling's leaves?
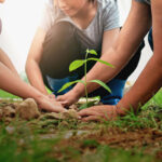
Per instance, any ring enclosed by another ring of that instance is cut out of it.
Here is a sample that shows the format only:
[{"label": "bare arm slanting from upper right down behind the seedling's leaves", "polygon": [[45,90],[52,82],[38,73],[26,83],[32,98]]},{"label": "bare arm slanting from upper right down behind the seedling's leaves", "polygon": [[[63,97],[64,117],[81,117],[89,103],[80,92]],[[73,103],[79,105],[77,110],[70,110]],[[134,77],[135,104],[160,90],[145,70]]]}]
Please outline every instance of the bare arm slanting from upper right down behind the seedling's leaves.
[{"label": "bare arm slanting from upper right down behind the seedling's leaves", "polygon": [[[140,13],[141,11],[143,13]],[[100,63],[96,63],[89,71],[86,80],[98,79],[108,82],[119,73],[131,59],[140,41],[149,30],[151,25],[150,17],[150,9],[148,5],[133,1],[131,13],[120,31],[116,44],[102,56],[103,60],[112,64],[116,68],[112,69]],[[87,84],[89,92],[97,87],[97,84]],[[84,87],[81,83],[78,83],[72,91],[78,97],[84,95]]]}]

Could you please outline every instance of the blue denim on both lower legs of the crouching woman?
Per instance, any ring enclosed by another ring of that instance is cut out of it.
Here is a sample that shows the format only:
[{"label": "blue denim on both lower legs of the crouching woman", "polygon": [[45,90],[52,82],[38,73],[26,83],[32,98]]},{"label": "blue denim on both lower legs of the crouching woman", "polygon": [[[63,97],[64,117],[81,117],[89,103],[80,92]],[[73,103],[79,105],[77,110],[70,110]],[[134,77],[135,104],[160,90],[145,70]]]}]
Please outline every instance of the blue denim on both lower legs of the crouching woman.
[{"label": "blue denim on both lower legs of the crouching woman", "polygon": [[[58,96],[64,95],[75,86],[71,85],[68,89],[64,90],[63,92],[57,93],[57,91],[59,91],[65,83],[77,80],[78,76],[76,73],[73,76],[69,76],[63,79],[53,79],[48,76],[46,79],[49,81],[51,89],[53,90],[53,94]],[[91,97],[100,96],[100,102],[104,105],[116,105],[123,96],[125,82],[126,80],[112,79],[110,82],[107,83],[112,93],[107,92],[104,87],[99,87],[98,90],[90,93],[89,96]]]}]

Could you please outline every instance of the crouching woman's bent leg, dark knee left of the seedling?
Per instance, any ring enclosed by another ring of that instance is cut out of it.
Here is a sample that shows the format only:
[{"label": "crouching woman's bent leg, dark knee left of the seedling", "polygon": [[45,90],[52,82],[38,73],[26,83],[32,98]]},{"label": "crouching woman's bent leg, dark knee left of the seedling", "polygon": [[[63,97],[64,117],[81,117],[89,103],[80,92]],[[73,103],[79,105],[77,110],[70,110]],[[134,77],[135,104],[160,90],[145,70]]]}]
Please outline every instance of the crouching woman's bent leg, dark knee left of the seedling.
[{"label": "crouching woman's bent leg, dark knee left of the seedling", "polygon": [[[80,44],[75,36],[76,27],[68,22],[60,22],[52,26],[43,43],[43,53],[40,68],[45,85],[55,95],[68,90],[57,91],[71,81],[76,72],[69,72],[71,62],[81,58]],[[76,77],[75,77],[76,80]]]}]

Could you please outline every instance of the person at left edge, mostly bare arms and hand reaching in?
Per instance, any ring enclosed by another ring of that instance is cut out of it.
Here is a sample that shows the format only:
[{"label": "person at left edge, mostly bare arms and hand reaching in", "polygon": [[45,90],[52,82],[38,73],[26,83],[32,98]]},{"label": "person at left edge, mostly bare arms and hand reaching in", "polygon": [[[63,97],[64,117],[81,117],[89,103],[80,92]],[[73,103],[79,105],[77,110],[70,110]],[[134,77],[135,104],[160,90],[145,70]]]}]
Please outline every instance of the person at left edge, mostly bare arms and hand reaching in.
[{"label": "person at left edge, mostly bare arms and hand reaching in", "polygon": [[[4,0],[0,0],[0,3],[2,2]],[[0,21],[0,31],[1,29]],[[0,49],[0,89],[23,98],[33,98],[41,109],[54,112],[66,111],[54,98],[45,96],[31,85],[25,83],[2,49]]]}]

